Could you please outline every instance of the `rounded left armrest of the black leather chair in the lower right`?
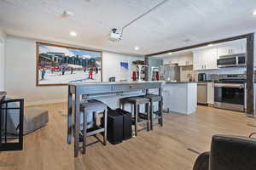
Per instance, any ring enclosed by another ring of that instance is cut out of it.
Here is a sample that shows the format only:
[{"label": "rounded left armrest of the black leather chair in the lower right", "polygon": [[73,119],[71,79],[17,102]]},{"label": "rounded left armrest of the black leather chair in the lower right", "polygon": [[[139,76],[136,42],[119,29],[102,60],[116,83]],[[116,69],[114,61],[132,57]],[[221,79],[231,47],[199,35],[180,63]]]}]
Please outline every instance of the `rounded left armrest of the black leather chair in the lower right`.
[{"label": "rounded left armrest of the black leather chair in the lower right", "polygon": [[193,170],[208,170],[209,169],[210,152],[204,152],[195,160]]}]

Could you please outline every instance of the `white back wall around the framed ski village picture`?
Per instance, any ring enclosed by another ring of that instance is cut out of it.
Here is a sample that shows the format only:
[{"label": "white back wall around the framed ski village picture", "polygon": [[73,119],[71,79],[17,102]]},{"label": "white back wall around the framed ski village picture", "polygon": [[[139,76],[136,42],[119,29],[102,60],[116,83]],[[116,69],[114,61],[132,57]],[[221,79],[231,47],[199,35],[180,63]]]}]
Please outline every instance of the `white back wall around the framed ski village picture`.
[{"label": "white back wall around the framed ski village picture", "polygon": [[[9,97],[24,98],[26,105],[42,105],[67,101],[67,86],[36,86],[36,40],[7,36],[6,38],[6,91]],[[131,77],[131,69],[121,76],[119,62],[143,59],[125,54],[102,53],[103,81],[108,77]],[[130,66],[130,65],[129,65]]]}]

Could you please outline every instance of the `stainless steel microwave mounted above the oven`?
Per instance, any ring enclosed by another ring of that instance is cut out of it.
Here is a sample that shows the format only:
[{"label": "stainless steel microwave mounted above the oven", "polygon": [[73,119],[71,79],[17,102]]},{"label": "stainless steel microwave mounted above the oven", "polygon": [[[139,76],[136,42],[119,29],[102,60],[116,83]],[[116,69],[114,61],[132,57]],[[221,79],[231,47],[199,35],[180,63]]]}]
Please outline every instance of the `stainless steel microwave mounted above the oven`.
[{"label": "stainless steel microwave mounted above the oven", "polygon": [[217,59],[218,68],[221,67],[245,67],[246,54],[223,55]]}]

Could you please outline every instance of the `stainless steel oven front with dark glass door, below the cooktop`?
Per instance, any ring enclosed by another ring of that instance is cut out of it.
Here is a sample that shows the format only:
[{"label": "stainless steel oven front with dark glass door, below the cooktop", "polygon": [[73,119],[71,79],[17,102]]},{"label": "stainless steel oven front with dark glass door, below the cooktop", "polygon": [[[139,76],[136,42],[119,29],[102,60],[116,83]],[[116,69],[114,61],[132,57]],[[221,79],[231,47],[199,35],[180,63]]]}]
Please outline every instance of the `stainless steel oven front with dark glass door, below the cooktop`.
[{"label": "stainless steel oven front with dark glass door, below the cooktop", "polygon": [[245,111],[244,83],[215,83],[214,107],[232,111]]}]

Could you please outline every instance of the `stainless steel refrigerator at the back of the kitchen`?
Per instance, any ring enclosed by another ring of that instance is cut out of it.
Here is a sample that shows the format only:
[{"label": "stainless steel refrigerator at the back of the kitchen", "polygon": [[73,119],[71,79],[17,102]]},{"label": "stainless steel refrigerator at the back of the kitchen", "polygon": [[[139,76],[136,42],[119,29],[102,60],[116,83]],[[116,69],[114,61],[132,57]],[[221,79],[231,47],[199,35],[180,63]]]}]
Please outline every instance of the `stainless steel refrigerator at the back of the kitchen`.
[{"label": "stainless steel refrigerator at the back of the kitchen", "polygon": [[180,82],[180,67],[177,64],[161,66],[160,80]]}]

